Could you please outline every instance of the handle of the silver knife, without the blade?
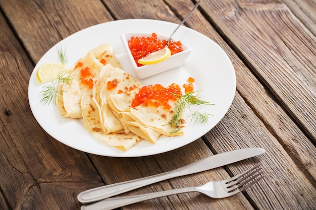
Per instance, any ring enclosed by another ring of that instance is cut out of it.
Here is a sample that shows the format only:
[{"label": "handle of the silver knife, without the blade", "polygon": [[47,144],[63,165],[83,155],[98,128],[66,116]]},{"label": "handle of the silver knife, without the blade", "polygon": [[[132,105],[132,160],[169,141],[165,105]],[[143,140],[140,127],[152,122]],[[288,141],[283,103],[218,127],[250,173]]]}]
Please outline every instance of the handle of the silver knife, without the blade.
[{"label": "handle of the silver knife, without the blade", "polygon": [[152,183],[180,176],[177,170],[85,190],[78,194],[81,203],[90,203],[137,189]]}]

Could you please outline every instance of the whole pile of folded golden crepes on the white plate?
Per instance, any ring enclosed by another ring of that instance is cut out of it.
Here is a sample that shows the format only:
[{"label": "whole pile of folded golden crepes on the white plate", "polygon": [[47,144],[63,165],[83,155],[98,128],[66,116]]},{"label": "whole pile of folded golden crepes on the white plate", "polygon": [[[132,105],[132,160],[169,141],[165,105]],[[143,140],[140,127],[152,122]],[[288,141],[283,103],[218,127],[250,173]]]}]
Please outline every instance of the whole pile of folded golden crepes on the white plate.
[{"label": "whole pile of folded golden crepes on the white plate", "polygon": [[[92,88],[81,82],[81,70],[85,67],[90,69]],[[171,132],[174,128],[169,124],[176,101],[168,110],[161,106],[131,107],[135,94],[143,85],[121,68],[110,44],[89,51],[76,62],[72,80],[58,85],[60,94],[56,95],[56,104],[61,115],[83,118],[89,133],[124,151],[141,139],[155,143],[162,134],[184,134],[185,123],[177,132]],[[114,86],[109,88],[109,84]],[[184,117],[181,120],[185,122]]]}]

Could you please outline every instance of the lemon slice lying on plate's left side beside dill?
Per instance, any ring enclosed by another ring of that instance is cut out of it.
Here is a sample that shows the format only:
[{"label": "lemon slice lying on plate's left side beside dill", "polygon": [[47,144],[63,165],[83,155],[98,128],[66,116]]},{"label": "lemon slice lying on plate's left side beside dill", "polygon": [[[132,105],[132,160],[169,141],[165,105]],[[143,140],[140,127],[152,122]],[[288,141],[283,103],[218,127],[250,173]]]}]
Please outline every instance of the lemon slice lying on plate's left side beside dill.
[{"label": "lemon slice lying on plate's left side beside dill", "polygon": [[61,72],[70,72],[67,65],[59,62],[44,63],[37,69],[36,77],[40,83],[56,80]]}]

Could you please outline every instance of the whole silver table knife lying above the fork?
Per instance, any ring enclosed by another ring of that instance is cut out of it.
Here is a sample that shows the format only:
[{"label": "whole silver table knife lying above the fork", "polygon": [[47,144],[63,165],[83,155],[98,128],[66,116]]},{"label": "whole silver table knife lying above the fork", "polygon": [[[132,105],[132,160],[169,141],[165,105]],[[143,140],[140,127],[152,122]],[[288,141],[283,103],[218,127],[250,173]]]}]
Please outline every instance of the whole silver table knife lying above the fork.
[{"label": "whole silver table knife lying above the fork", "polygon": [[220,166],[225,166],[247,158],[264,154],[265,152],[266,151],[261,148],[245,148],[213,155],[165,173],[85,190],[78,194],[78,200],[81,203],[95,202],[152,183],[156,183],[178,176],[194,174],[209,169],[214,169]]}]

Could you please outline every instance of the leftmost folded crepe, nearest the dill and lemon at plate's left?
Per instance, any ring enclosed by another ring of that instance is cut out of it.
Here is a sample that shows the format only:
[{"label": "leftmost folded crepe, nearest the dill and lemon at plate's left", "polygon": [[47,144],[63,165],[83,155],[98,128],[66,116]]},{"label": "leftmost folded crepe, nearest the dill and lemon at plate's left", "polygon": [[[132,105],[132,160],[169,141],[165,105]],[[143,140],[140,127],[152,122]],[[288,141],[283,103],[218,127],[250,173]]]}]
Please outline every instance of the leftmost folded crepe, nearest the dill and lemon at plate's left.
[{"label": "leftmost folded crepe, nearest the dill and lemon at plate's left", "polygon": [[[78,63],[82,63],[82,66],[79,66]],[[56,104],[63,117],[82,117],[80,100],[85,90],[88,89],[88,86],[81,83],[81,69],[89,67],[91,72],[89,79],[92,79],[93,83],[95,83],[104,64],[121,67],[110,44],[103,44],[90,50],[76,62],[76,66],[71,73],[72,80],[68,83],[58,84],[57,90],[59,94],[56,94]]]}]

